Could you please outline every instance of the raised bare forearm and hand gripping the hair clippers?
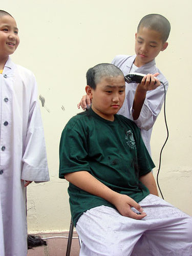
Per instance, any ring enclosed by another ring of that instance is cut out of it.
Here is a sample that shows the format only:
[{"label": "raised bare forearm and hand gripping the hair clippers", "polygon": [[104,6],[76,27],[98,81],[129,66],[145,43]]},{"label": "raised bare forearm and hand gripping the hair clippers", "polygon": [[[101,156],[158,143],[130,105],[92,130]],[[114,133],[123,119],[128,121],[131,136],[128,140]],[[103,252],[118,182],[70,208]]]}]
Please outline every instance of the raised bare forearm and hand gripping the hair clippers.
[{"label": "raised bare forearm and hand gripping the hair clippers", "polygon": [[155,90],[157,87],[160,86],[160,81],[155,78],[158,75],[159,73],[155,73],[154,75],[147,74],[145,77],[143,77],[141,83],[138,84],[133,102],[132,116],[134,120],[137,120],[139,118],[146,97],[146,92]]}]

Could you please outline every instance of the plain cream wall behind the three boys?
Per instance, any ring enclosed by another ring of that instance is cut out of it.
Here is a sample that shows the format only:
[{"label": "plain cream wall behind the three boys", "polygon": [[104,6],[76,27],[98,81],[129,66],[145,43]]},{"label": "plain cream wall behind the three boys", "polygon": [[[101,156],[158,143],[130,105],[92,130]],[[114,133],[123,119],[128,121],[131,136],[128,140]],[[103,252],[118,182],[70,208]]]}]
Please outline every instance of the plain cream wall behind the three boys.
[{"label": "plain cream wall behind the three boys", "polygon": [[[135,4],[136,3],[136,4]],[[172,31],[169,46],[156,62],[169,80],[166,101],[169,140],[162,154],[159,183],[164,198],[192,215],[191,133],[191,0],[2,1],[1,9],[17,21],[20,46],[12,59],[31,69],[39,94],[50,113],[41,108],[51,181],[28,188],[29,232],[66,230],[70,210],[65,180],[58,179],[58,146],[67,121],[79,112],[88,68],[111,62],[117,54],[134,54],[140,18],[148,13],[166,16]],[[61,109],[64,106],[65,111]],[[158,168],[166,137],[163,112],[154,126],[152,153]]]}]

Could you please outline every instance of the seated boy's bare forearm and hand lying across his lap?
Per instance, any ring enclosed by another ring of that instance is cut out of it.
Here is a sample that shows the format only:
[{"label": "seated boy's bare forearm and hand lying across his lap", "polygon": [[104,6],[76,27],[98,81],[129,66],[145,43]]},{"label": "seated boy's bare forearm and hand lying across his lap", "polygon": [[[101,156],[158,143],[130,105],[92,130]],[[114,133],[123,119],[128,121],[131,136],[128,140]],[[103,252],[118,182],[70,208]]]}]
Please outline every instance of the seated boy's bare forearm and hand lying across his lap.
[{"label": "seated boy's bare forearm and hand lying across his lap", "polygon": [[[73,185],[80,189],[87,191],[90,194],[101,197],[106,201],[115,205],[117,210],[122,216],[130,217],[133,219],[140,220],[146,216],[141,206],[135,202],[132,198],[126,195],[119,194],[109,187],[105,186],[89,172],[79,171],[74,173],[65,174],[66,180],[71,182]],[[136,214],[131,207],[136,208],[140,215]]]}]

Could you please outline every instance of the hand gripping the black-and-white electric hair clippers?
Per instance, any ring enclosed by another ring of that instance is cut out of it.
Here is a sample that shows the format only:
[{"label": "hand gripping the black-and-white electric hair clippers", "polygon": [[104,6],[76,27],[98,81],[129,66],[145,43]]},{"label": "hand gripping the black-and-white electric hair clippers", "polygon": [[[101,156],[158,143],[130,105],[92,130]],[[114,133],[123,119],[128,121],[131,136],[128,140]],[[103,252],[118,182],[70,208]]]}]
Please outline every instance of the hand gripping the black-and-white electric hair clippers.
[{"label": "hand gripping the black-and-white electric hair clippers", "polygon": [[155,73],[154,75],[147,74],[144,76],[141,83],[138,84],[137,90],[139,89],[145,92],[155,90],[161,84],[160,81],[156,78],[158,75],[159,73]]}]

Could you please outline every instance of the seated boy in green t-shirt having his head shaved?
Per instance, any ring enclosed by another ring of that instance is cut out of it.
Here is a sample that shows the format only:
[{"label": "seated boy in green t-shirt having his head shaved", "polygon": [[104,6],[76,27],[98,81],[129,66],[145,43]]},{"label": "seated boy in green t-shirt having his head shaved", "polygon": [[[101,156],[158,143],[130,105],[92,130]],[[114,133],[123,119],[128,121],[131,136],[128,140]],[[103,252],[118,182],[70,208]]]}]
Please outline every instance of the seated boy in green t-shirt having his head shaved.
[{"label": "seated boy in green t-shirt having his head shaved", "polygon": [[[148,74],[145,86],[159,86],[156,75]],[[137,125],[116,115],[123,73],[101,63],[88,70],[87,84],[92,106],[70,119],[59,147],[80,256],[189,256],[191,218],[158,197],[155,165]]]}]

